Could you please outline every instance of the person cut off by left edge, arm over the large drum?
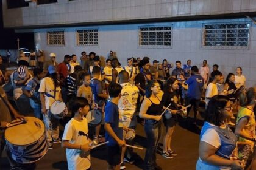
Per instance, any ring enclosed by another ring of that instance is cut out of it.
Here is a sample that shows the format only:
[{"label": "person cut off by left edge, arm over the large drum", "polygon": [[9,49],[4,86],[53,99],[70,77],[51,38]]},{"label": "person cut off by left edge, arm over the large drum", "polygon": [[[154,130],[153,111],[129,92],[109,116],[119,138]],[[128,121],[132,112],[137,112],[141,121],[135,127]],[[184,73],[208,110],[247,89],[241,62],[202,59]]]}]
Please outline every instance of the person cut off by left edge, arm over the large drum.
[{"label": "person cut off by left edge, arm over the large drum", "polygon": [[[23,118],[13,107],[12,104],[9,103],[7,99],[7,95],[4,92],[4,89],[2,89],[2,86],[0,86],[0,158],[2,155],[2,151],[5,146],[5,140],[4,140],[4,129],[6,128],[7,124],[10,123],[12,120],[11,113],[15,118]],[[17,168],[18,165],[11,157],[11,153],[9,149],[7,151],[7,157],[11,166],[11,169]]]}]

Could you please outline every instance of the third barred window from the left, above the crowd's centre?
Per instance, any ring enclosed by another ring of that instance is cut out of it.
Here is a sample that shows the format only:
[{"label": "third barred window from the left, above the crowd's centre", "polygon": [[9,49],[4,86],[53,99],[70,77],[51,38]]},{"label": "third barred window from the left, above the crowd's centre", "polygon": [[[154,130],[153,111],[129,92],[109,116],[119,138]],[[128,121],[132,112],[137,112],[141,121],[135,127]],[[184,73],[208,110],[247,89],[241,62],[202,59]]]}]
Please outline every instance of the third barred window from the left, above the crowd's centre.
[{"label": "third barred window from the left, above the crowd's centre", "polygon": [[170,48],[172,27],[140,27],[138,35],[139,47]]}]

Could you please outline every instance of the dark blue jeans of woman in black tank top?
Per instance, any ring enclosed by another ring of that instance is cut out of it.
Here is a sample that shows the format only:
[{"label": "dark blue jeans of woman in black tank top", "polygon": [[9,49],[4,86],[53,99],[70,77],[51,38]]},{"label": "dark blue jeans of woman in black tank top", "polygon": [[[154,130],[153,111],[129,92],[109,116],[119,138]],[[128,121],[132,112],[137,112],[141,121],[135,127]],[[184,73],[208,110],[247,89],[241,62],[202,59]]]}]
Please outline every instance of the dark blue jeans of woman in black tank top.
[{"label": "dark blue jeans of woman in black tank top", "polygon": [[147,150],[144,158],[144,169],[153,170],[155,169],[157,146],[162,134],[162,123],[161,121],[145,120],[144,131],[147,135]]}]

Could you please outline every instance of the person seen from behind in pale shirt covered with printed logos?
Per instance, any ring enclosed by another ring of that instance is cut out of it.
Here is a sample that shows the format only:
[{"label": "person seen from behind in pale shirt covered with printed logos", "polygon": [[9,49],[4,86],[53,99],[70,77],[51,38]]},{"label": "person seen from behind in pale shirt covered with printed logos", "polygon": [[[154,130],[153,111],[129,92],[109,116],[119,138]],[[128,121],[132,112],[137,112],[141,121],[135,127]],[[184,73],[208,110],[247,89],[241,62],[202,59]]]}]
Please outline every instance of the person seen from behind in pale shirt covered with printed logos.
[{"label": "person seen from behind in pale shirt covered with printed logos", "polygon": [[[138,87],[129,83],[129,73],[121,71],[118,75],[119,84],[122,86],[121,98],[118,102],[119,113],[122,115],[122,121],[124,126],[135,130],[137,126],[137,118],[135,115],[138,95],[140,94]],[[127,144],[133,145],[133,141],[126,141]],[[127,155],[124,157],[124,161],[127,163],[133,163],[132,148],[127,148]],[[122,152],[122,157],[124,152]]]}]

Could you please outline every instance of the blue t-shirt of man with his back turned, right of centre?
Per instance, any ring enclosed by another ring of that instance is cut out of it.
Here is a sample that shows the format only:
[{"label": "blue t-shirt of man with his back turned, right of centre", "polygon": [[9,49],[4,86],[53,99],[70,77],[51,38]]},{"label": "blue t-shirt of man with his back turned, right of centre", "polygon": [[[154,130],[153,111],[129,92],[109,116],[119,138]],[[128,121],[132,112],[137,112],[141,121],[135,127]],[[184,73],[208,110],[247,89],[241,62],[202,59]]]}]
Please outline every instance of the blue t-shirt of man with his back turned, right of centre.
[{"label": "blue t-shirt of man with his back turned, right of centre", "polygon": [[191,75],[185,83],[188,84],[187,97],[199,100],[204,86],[204,78],[201,75]]}]

